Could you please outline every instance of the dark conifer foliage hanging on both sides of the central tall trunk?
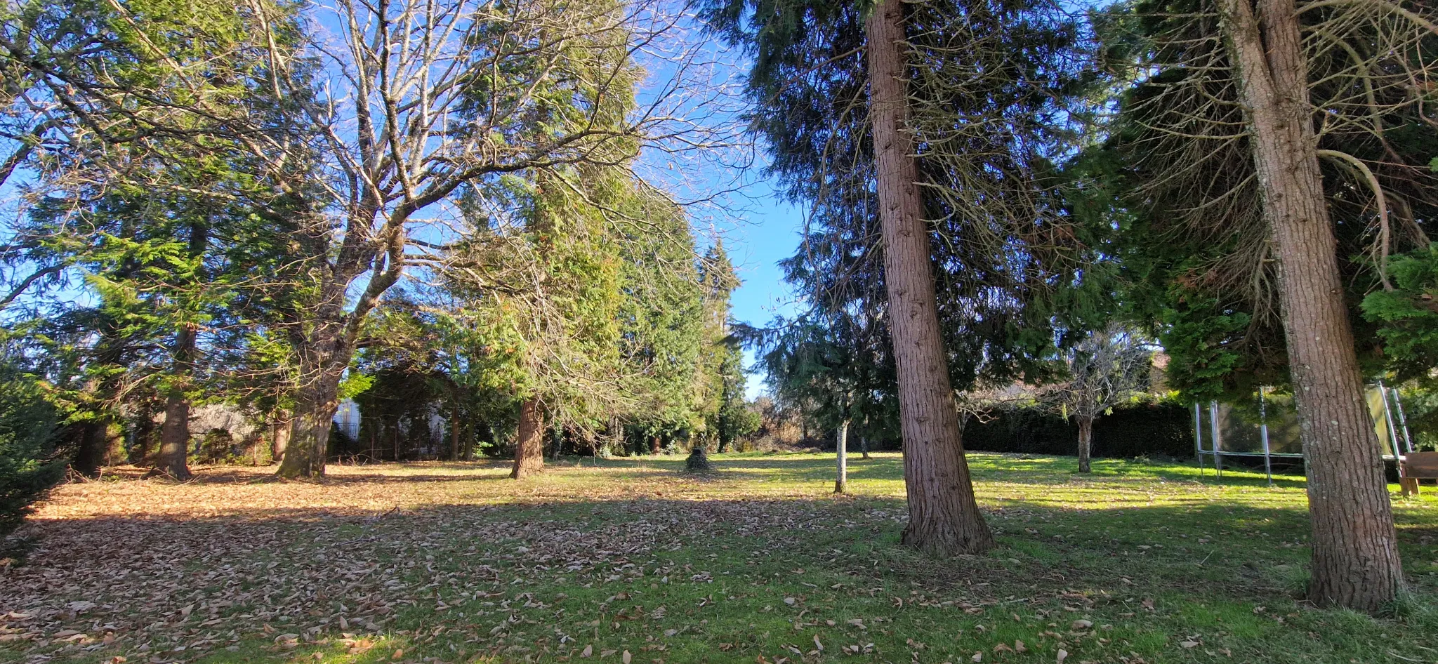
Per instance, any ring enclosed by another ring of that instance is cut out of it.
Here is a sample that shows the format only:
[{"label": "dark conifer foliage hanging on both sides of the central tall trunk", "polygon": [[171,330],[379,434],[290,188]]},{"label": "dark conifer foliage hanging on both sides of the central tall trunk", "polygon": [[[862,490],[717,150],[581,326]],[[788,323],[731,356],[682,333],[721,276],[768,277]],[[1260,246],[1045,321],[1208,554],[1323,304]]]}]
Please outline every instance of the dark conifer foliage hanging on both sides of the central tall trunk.
[{"label": "dark conifer foliage hanging on both sides of the central tall trunk", "polygon": [[[896,374],[863,52],[870,4],[702,6],[713,30],[754,56],[754,129],[787,195],[810,206],[804,244],[782,263],[808,308],[751,339],[771,354],[771,387],[801,411],[823,411],[823,427],[892,423]],[[1066,141],[1054,118],[1078,76],[1080,30],[1038,1],[909,7],[910,103],[951,382],[963,391],[1048,377],[1055,342],[1073,325],[1054,312],[1113,300],[1060,293],[1099,275],[1076,272],[1076,236],[1047,175]]]}]

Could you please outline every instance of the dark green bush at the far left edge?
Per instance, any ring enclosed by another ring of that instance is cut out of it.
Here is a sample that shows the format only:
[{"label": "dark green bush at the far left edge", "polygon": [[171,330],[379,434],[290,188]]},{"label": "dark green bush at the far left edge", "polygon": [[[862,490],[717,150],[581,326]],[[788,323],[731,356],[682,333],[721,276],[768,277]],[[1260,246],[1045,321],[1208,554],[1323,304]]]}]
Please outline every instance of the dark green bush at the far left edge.
[{"label": "dark green bush at the far left edge", "polygon": [[0,535],[14,530],[29,504],[65,473],[55,443],[63,412],[35,375],[0,364]]}]

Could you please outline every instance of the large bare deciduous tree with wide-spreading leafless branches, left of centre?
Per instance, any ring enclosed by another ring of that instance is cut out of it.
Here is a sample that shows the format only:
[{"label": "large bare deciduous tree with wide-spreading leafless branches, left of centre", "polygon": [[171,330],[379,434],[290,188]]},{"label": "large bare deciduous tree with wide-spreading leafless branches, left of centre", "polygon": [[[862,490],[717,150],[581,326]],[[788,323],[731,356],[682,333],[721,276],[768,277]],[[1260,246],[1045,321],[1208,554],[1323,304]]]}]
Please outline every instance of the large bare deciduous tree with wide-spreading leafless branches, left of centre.
[{"label": "large bare deciduous tree with wide-spreading leafless branches, left of centre", "polygon": [[316,37],[299,53],[272,50],[270,83],[295,106],[299,131],[246,135],[246,144],[275,172],[313,155],[311,183],[322,185],[319,197],[288,190],[306,200],[316,295],[290,335],[298,388],[282,476],[324,471],[336,387],[361,323],[407,267],[431,260],[462,229],[452,221],[462,190],[568,164],[618,165],[636,148],[723,145],[726,137],[683,114],[700,89],[702,47],[663,53],[667,78],[631,103],[641,65],[660,53],[656,42],[682,29],[683,17],[661,9],[341,0],[315,6]]}]

